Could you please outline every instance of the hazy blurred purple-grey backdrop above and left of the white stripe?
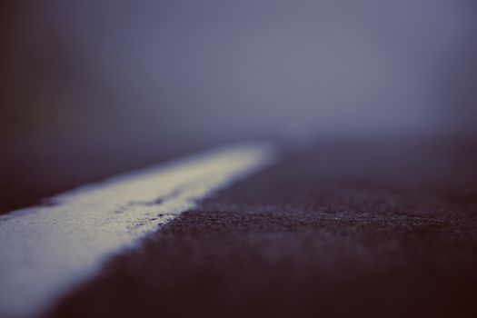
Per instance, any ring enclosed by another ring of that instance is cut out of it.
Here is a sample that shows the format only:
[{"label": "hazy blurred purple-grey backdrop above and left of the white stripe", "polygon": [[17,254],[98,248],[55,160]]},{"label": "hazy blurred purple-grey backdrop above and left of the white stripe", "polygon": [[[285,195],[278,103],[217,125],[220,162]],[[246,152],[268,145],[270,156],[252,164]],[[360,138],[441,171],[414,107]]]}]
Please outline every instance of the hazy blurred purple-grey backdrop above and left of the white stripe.
[{"label": "hazy blurred purple-grey backdrop above and left of the white stripe", "polygon": [[477,138],[473,0],[3,0],[0,212],[205,146]]}]

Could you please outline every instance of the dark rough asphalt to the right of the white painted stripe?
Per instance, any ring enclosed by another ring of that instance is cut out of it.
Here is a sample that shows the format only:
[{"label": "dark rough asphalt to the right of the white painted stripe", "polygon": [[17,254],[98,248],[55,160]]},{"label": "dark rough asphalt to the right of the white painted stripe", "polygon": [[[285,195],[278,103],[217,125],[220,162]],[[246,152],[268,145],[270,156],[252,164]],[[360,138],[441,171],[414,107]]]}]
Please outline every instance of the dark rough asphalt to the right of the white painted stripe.
[{"label": "dark rough asphalt to the right of the white painted stripe", "polygon": [[48,316],[475,317],[476,158],[455,143],[288,152]]}]

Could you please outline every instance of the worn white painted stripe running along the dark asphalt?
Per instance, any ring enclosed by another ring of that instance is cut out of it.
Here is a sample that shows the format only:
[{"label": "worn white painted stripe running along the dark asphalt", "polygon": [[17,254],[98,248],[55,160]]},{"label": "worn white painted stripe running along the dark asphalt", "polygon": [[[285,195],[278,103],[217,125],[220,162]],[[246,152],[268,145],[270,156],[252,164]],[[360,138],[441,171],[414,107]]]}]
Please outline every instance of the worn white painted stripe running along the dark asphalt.
[{"label": "worn white painted stripe running along the dark asphalt", "polygon": [[271,144],[234,144],[1,216],[0,316],[42,313],[114,253],[273,160]]}]

